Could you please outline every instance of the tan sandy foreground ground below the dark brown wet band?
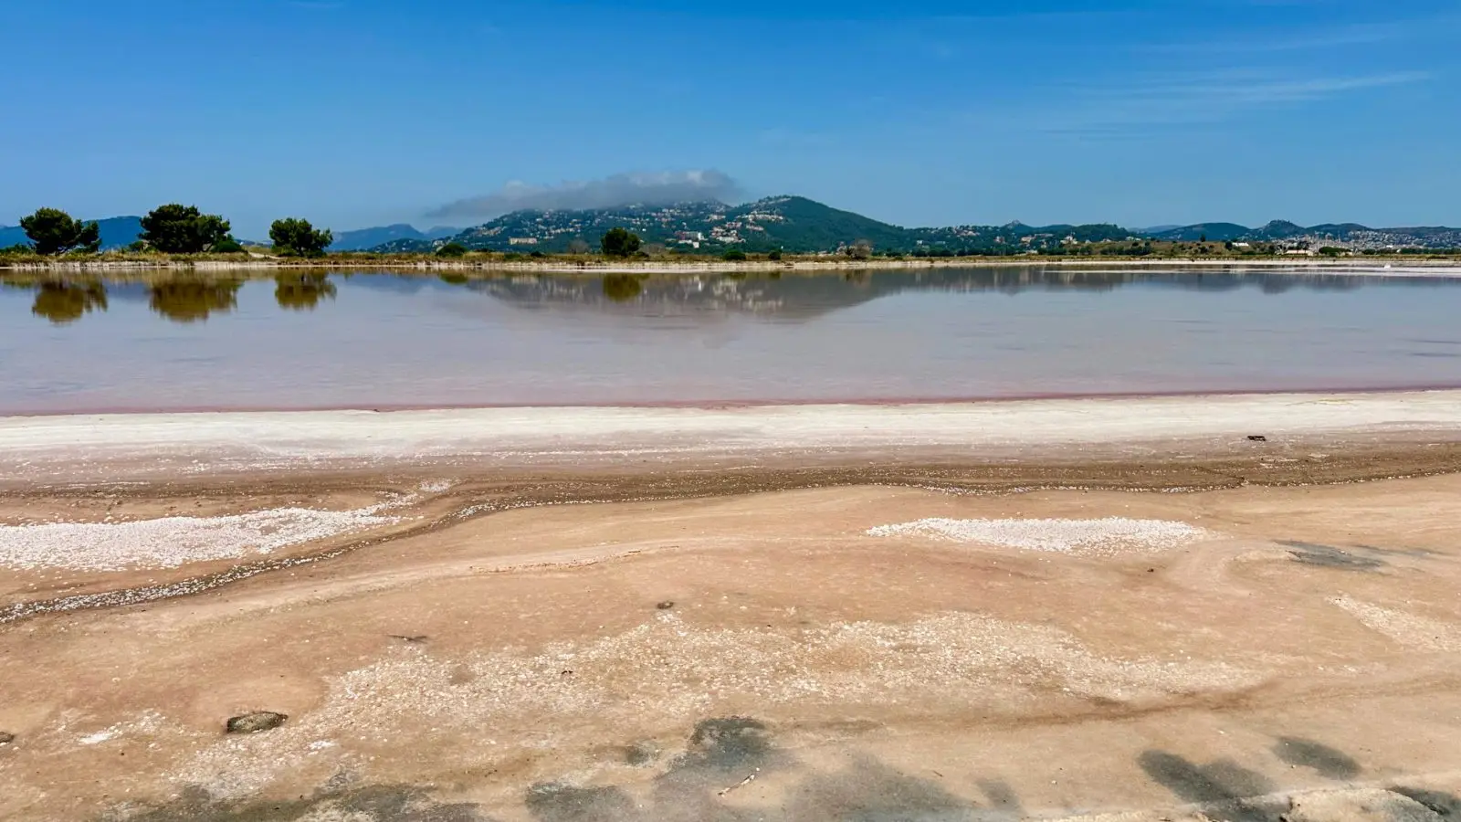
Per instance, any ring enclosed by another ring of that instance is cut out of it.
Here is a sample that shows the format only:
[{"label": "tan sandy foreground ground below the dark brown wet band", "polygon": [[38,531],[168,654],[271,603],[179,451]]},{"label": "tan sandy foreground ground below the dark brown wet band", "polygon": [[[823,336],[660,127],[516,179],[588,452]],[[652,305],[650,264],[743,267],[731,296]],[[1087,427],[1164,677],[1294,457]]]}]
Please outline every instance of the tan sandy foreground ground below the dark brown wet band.
[{"label": "tan sandy foreground ground below the dark brown wet band", "polygon": [[1461,816],[1458,475],[530,491],[0,497],[0,818]]}]

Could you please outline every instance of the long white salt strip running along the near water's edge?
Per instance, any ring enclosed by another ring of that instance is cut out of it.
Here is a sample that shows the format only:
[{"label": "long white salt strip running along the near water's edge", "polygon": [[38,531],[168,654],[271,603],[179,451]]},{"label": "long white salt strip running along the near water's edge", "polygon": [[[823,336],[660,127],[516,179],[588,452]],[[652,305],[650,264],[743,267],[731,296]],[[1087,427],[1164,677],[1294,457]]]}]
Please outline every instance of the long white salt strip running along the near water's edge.
[{"label": "long white salt strip running along the near water's edge", "polygon": [[[982,456],[1049,446],[1086,453],[1159,442],[1226,443],[1245,434],[1419,433],[1461,439],[1461,391],[1036,399],[909,405],[738,408],[478,408],[111,414],[0,418],[0,464],[12,478],[61,465],[121,478],[108,465],[297,468],[321,461],[384,464],[478,458],[542,467],[628,459],[953,449]],[[1081,453],[1067,453],[1080,456]]]}]

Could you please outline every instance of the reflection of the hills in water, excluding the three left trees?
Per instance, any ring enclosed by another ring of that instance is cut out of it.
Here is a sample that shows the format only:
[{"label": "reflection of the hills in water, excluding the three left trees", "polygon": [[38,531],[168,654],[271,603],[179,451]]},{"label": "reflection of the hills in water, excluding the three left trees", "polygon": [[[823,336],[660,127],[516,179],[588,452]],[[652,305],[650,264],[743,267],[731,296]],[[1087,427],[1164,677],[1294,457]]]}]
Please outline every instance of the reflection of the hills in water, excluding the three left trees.
[{"label": "reflection of the hills in water, excluding the three left trees", "polygon": [[595,310],[636,316],[704,316],[725,313],[776,319],[812,319],[880,297],[918,291],[1020,294],[1026,291],[1113,291],[1122,287],[1233,291],[1258,288],[1278,294],[1292,288],[1349,291],[1365,285],[1461,285],[1443,278],[1382,278],[1335,274],[1273,272],[1144,272],[1074,268],[937,268],[922,271],[850,271],[837,275],[771,274],[707,275],[519,275],[450,282],[529,310]]}]

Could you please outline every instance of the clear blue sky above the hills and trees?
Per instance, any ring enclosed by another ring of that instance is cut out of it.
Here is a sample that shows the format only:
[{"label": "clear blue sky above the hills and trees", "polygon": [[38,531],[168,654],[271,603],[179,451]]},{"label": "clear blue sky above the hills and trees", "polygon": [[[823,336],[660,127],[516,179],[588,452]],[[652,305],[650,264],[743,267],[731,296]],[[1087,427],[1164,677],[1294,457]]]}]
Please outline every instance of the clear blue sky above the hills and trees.
[{"label": "clear blue sky above the hills and trees", "polygon": [[470,224],[428,215],[687,170],[904,225],[1461,224],[1454,0],[6,0],[0,28],[0,224]]}]

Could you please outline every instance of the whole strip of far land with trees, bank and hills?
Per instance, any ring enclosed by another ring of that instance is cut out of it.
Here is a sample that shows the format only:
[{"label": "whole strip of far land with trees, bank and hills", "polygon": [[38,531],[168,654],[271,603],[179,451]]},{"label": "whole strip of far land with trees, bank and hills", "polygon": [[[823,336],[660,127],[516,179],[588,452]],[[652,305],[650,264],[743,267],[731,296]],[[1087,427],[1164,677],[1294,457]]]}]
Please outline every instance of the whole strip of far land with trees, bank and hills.
[{"label": "whole strip of far land with trees, bank and hills", "polygon": [[[57,209],[39,209],[22,227],[0,227],[0,266],[47,266],[139,262],[188,265],[205,260],[240,262],[247,252],[229,235],[229,222],[196,206],[165,205],[145,218],[115,216],[96,222],[73,219]],[[1255,259],[1289,254],[1318,257],[1446,256],[1461,244],[1461,230],[1386,228],[1357,224],[1300,227],[1274,221],[1261,228],[1237,224],[1198,224],[1134,233],[1110,224],[955,225],[903,228],[828,208],[805,197],[766,197],[744,205],[691,202],[618,206],[587,211],[522,211],[476,228],[430,234],[409,225],[361,230],[352,246],[333,243],[335,234],[308,221],[273,222],[273,250],[285,257],[327,259],[327,265],[393,265],[453,260],[460,266],[552,260],[587,268],[596,260],[663,263],[782,259],[824,262],[923,260],[951,257],[1067,259]],[[342,234],[343,237],[343,234]],[[396,237],[374,250],[354,243]],[[592,247],[584,238],[599,238]],[[16,244],[23,241],[23,244]],[[438,246],[440,244],[440,246]],[[9,247],[4,247],[9,246]],[[330,250],[335,249],[335,250]],[[532,249],[530,252],[526,252]],[[567,256],[564,256],[567,254]],[[269,263],[262,263],[269,265]],[[281,263],[286,265],[286,263]]]}]

